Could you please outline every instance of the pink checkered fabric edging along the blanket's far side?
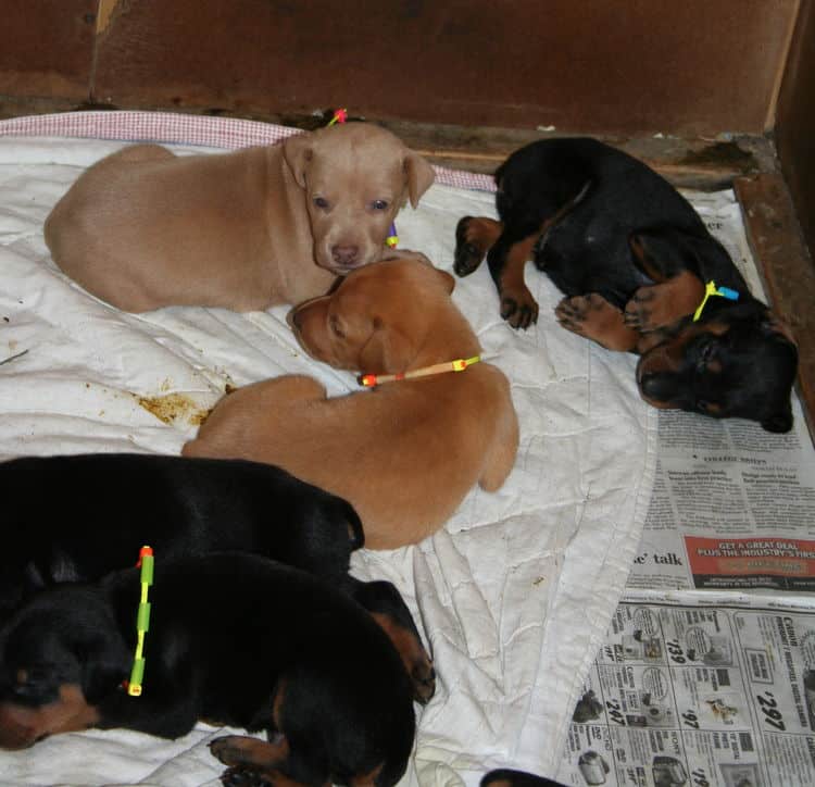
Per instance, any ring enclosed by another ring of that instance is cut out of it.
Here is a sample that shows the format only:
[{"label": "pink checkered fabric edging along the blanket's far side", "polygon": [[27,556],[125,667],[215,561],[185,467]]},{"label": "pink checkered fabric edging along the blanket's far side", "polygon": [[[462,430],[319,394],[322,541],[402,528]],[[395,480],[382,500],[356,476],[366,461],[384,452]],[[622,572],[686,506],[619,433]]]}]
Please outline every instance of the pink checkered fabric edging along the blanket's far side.
[{"label": "pink checkered fabric edging along the blanket's far side", "polygon": [[[246,148],[274,145],[297,129],[235,117],[204,117],[172,112],[62,112],[0,121],[0,136],[84,137],[122,141]],[[437,183],[477,191],[494,191],[491,176],[435,166]]]}]

